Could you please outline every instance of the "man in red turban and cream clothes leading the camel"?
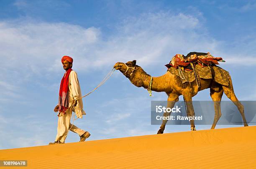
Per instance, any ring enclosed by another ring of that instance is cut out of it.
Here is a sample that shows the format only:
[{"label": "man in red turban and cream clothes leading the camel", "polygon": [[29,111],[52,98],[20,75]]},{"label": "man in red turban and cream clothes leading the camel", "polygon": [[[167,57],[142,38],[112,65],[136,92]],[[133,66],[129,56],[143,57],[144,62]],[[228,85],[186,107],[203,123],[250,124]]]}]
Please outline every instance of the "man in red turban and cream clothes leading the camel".
[{"label": "man in red turban and cream clothes leading the camel", "polygon": [[[77,73],[72,70],[73,59],[64,56],[61,59],[64,70],[66,70],[59,88],[59,104],[54,108],[54,112],[58,112],[58,127],[55,142],[50,144],[62,144],[65,142],[68,130],[77,133],[80,136],[80,142],[90,137],[90,133],[79,129],[74,124],[70,124],[72,111],[76,113],[78,118],[82,118],[85,114],[83,110],[82,99],[76,100],[82,96]],[[72,108],[74,105],[74,108]],[[70,110],[72,108],[72,110]]]}]

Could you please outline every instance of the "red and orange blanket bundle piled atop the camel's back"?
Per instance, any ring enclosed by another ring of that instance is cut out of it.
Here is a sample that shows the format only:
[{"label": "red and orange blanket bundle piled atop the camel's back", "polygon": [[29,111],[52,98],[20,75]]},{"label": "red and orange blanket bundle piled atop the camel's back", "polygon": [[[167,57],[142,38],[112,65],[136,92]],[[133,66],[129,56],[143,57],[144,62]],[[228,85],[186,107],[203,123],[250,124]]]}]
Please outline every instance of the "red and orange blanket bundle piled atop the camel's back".
[{"label": "red and orange blanket bundle piled atop the camel's back", "polygon": [[183,67],[184,70],[192,70],[191,64],[199,64],[201,67],[207,65],[219,65],[218,61],[222,61],[221,57],[213,57],[209,52],[190,52],[187,56],[177,54],[175,55],[169,64],[165,65],[167,68],[174,67],[178,68]]}]

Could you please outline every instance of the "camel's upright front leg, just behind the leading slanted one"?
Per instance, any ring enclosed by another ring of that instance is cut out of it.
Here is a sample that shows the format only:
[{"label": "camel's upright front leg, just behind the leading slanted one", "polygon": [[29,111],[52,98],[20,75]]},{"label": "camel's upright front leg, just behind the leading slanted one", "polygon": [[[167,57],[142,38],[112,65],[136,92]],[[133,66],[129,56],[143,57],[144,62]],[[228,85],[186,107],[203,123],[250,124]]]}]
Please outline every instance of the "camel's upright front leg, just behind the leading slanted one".
[{"label": "camel's upright front leg, just behind the leading slanted one", "polygon": [[[183,97],[184,97],[184,102],[187,105],[187,116],[188,117],[194,117],[195,116],[195,111],[194,107],[192,104],[192,96],[189,92],[184,91],[183,92]],[[190,120],[190,129],[191,131],[195,131],[195,122],[194,119]]]}]

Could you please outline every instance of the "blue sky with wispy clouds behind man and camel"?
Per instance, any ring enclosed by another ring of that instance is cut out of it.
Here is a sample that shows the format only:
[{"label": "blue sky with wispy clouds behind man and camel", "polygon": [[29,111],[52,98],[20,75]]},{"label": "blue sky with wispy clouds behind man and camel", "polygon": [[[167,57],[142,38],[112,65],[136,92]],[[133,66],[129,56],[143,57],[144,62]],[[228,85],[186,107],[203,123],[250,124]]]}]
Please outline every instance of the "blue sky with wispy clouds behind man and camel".
[{"label": "blue sky with wispy clouds behind man and camel", "polygon": [[[54,141],[63,55],[73,57],[86,94],[115,62],[137,60],[160,76],[177,53],[211,52],[227,61],[220,66],[238,99],[256,100],[256,1],[0,0],[0,7],[0,149]],[[209,93],[194,100],[211,100]],[[167,96],[153,95],[115,71],[83,100],[87,115],[74,124],[92,134],[88,140],[155,134],[150,103]],[[189,128],[170,125],[165,133]],[[78,140],[70,132],[66,142]]]}]

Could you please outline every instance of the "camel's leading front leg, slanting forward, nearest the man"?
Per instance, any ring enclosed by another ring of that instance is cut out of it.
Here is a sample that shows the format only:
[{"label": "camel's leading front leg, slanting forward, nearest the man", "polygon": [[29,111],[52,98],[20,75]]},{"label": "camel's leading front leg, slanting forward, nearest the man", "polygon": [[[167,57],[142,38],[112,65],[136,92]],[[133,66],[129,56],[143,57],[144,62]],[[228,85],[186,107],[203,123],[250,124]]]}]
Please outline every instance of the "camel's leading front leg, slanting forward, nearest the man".
[{"label": "camel's leading front leg, slanting forward, nearest the man", "polygon": [[[169,97],[167,99],[167,107],[166,108],[173,108],[175,102],[177,102],[179,100],[179,95],[177,94],[169,94]],[[168,117],[171,113],[168,112],[164,112],[164,117]],[[168,120],[163,120],[162,125],[160,127],[160,129],[158,130],[157,134],[163,134],[164,133],[164,129],[165,129],[165,125],[168,122]]]}]

